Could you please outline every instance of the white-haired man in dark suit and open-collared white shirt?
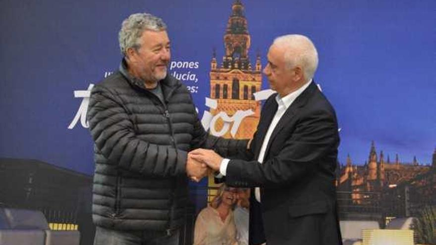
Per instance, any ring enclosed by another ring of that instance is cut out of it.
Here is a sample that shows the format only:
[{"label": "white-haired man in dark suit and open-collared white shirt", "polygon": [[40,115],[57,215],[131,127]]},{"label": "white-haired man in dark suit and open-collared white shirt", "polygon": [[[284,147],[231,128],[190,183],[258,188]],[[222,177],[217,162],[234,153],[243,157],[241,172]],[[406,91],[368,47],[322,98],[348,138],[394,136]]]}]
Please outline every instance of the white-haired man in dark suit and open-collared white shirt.
[{"label": "white-haired man in dark suit and open-collared white shirt", "polygon": [[[245,159],[212,150],[189,155],[236,187],[256,187],[250,207],[250,243],[341,245],[334,171],[336,115],[313,81],[318,53],[302,35],[274,40],[264,69],[277,92],[265,102]],[[263,231],[264,234],[263,234]]]}]

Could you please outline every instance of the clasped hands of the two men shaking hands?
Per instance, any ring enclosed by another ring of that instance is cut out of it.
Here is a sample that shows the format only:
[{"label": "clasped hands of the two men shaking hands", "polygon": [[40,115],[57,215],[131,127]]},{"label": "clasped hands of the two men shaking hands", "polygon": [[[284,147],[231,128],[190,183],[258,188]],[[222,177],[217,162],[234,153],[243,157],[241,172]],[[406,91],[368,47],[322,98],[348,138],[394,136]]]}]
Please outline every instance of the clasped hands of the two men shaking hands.
[{"label": "clasped hands of the two men shaking hands", "polygon": [[199,182],[209,171],[219,171],[222,157],[213,150],[198,148],[188,153],[186,174],[191,180]]}]

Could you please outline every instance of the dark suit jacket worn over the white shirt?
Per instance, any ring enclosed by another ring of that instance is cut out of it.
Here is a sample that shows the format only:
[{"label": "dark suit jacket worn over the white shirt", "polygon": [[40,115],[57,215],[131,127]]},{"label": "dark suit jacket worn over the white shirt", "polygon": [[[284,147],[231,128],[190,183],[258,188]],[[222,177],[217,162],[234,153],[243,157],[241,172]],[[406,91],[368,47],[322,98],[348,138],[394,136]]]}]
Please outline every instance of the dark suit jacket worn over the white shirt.
[{"label": "dark suit jacket worn over the white shirt", "polygon": [[263,228],[267,245],[341,244],[334,187],[339,145],[334,109],[312,82],[277,123],[261,164],[257,159],[277,110],[275,96],[262,109],[246,156],[252,160],[232,159],[226,170],[229,186],[261,187],[262,203],[252,199],[250,207],[250,242],[263,242]]}]

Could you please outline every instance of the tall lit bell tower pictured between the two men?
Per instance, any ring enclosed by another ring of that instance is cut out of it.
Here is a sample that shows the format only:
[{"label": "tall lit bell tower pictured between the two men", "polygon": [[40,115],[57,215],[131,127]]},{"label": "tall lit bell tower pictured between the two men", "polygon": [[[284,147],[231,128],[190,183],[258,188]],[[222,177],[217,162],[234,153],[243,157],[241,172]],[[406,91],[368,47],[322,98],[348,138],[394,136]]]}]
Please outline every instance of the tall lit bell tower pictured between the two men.
[{"label": "tall lit bell tower pictured between the two men", "polygon": [[[244,117],[234,136],[230,134],[230,130],[223,135],[225,138],[249,139],[253,137],[259,123],[261,103],[254,99],[253,94],[261,90],[262,64],[259,54],[256,64],[253,66],[250,63],[251,37],[240,0],[235,0],[232,4],[223,41],[222,60],[218,63],[214,50],[211,61],[210,97],[218,101],[218,107],[210,112],[213,116],[225,112],[232,117],[238,110],[251,109],[254,114]],[[223,123],[222,119],[218,119],[215,130],[220,131]]]}]

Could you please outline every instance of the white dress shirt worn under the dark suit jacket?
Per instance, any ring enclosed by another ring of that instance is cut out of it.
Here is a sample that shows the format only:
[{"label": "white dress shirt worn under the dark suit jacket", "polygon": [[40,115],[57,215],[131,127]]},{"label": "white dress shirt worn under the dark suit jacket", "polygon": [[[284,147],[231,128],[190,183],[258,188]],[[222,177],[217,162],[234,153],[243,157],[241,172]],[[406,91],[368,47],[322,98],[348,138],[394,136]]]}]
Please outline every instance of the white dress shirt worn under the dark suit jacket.
[{"label": "white dress shirt worn under the dark suit jacket", "polygon": [[[306,90],[307,87],[312,83],[312,79],[310,82],[303,85],[298,90],[286,95],[285,97],[281,98],[280,95],[277,95],[275,97],[275,101],[277,101],[277,111],[275,112],[274,117],[272,118],[270,127],[268,128],[267,134],[265,135],[264,142],[262,143],[261,151],[259,152],[259,157],[257,159],[258,162],[261,164],[264,161],[265,151],[267,150],[268,142],[270,141],[270,137],[272,135],[272,132],[274,131],[275,126],[277,126],[278,121],[280,121],[280,118],[283,116],[283,114],[286,112],[287,108],[291,106],[292,102],[303,93],[304,90]],[[221,165],[219,166],[219,173],[223,176],[226,174],[227,165],[230,159],[224,158],[221,161]],[[255,192],[256,200],[259,202],[261,201],[260,197],[260,189],[259,187],[256,187]]]}]

